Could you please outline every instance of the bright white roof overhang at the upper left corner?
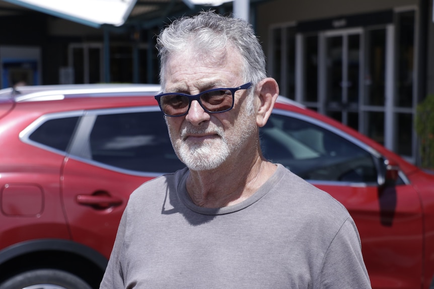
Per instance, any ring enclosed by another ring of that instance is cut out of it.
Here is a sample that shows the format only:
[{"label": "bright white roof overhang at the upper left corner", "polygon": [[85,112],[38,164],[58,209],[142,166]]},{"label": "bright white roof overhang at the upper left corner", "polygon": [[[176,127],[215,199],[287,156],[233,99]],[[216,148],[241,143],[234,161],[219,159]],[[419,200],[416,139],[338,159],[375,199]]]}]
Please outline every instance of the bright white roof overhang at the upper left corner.
[{"label": "bright white roof overhang at the upper left corner", "polygon": [[35,11],[99,28],[121,26],[137,0],[4,0]]}]

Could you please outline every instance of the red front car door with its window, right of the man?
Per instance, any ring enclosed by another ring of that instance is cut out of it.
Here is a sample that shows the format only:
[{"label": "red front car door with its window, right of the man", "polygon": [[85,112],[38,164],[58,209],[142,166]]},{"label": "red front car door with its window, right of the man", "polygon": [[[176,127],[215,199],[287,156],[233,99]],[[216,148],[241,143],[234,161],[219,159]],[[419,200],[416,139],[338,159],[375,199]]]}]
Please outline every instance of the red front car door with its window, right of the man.
[{"label": "red front car door with its window, right of the man", "polygon": [[422,213],[405,176],[394,185],[379,186],[379,153],[331,125],[283,110],[274,110],[261,129],[261,145],[266,158],[347,208],[360,234],[373,288],[420,286]]}]

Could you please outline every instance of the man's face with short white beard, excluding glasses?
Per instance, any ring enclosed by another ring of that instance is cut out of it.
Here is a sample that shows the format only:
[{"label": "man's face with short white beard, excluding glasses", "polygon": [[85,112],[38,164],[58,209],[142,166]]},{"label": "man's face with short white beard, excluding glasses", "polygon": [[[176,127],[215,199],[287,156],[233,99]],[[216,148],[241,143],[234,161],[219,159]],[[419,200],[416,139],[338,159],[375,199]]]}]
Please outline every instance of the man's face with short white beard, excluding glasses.
[{"label": "man's face with short white beard, excluding glasses", "polygon": [[[191,52],[172,56],[167,63],[165,92],[197,94],[244,84],[241,55],[233,48],[227,52],[224,59],[206,63]],[[251,89],[236,91],[234,108],[228,112],[210,114],[193,101],[187,115],[166,117],[175,152],[187,167],[210,170],[231,157],[239,162],[237,156],[256,145],[256,119],[253,103],[248,105],[247,97]]]}]

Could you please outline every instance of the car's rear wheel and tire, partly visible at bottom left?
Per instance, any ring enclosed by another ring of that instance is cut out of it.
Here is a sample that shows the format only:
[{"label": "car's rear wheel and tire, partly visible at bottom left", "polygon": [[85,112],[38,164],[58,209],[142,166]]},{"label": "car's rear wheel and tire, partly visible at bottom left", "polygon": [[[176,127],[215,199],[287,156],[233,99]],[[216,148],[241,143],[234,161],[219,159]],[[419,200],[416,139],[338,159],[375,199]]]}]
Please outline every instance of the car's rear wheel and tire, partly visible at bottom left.
[{"label": "car's rear wheel and tire, partly visible at bottom left", "polygon": [[92,289],[80,277],[56,269],[27,271],[0,284],[0,289]]}]

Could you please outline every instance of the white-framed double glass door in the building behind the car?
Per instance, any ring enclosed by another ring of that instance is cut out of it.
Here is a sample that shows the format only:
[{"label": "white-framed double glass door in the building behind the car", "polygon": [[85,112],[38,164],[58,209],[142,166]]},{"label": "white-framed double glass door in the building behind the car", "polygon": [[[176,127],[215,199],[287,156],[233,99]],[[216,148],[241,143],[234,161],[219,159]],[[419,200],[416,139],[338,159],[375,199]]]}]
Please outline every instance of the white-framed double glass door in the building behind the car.
[{"label": "white-framed double glass door in the building behind the car", "polygon": [[361,31],[325,35],[325,113],[358,130]]}]

